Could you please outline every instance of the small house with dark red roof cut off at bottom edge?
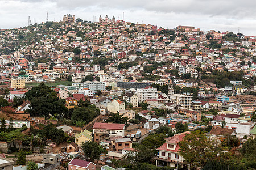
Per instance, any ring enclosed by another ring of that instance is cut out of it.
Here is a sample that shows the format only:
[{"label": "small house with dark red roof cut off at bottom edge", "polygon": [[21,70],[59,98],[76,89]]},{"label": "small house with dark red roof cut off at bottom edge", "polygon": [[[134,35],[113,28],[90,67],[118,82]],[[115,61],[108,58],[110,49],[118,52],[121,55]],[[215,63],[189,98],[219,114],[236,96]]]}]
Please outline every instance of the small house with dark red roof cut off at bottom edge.
[{"label": "small house with dark red roof cut off at bottom edge", "polygon": [[94,170],[96,169],[96,164],[93,162],[80,160],[80,159],[72,159],[71,162],[68,163],[68,170]]}]

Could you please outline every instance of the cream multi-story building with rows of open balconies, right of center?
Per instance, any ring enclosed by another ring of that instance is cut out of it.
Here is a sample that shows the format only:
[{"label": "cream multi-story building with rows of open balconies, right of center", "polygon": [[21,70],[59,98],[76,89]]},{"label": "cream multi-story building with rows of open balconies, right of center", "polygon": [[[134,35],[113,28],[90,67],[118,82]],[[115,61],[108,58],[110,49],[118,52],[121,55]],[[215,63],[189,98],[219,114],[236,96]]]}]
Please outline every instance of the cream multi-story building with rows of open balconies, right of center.
[{"label": "cream multi-story building with rows of open balconies, right of center", "polygon": [[192,96],[174,94],[170,96],[171,103],[180,104],[183,109],[189,109],[192,107]]}]

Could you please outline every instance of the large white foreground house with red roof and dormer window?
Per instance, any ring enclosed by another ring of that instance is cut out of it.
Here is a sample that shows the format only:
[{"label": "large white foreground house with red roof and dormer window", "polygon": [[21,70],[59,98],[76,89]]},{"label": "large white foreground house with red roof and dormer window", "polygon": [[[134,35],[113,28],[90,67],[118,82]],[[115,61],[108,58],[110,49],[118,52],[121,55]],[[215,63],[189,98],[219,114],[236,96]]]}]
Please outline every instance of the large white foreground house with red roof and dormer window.
[{"label": "large white foreground house with red roof and dormer window", "polygon": [[156,165],[177,167],[177,164],[182,165],[184,158],[179,155],[179,142],[183,140],[188,131],[176,134],[173,137],[164,139],[166,142],[158,147],[158,156],[155,158]]}]

